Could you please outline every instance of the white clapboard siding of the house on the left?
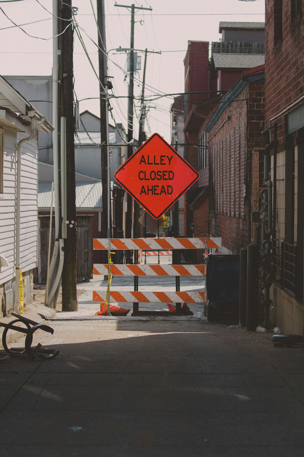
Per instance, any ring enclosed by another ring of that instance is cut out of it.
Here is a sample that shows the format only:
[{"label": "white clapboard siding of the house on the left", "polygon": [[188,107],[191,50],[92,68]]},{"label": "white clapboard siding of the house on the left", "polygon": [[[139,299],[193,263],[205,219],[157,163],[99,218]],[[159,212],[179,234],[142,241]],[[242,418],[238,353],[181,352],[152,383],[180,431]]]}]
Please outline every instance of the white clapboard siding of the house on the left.
[{"label": "white clapboard siding of the house on the left", "polygon": [[[30,135],[4,129],[3,198],[0,199],[0,254],[10,266],[0,272],[0,284],[15,276],[15,187],[16,149]],[[20,266],[23,272],[36,267],[37,260],[37,136],[21,146]]]}]

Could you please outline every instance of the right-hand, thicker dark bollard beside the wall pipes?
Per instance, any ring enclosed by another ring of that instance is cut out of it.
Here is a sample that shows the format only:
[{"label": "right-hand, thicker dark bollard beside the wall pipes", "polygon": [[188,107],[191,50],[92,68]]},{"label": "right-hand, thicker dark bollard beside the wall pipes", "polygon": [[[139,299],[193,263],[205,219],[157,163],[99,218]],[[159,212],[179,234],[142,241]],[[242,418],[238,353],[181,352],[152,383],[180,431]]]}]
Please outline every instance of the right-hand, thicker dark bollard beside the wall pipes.
[{"label": "right-hand, thicker dark bollard beside the wall pipes", "polygon": [[258,244],[248,244],[247,248],[247,331],[255,331],[258,325]]}]

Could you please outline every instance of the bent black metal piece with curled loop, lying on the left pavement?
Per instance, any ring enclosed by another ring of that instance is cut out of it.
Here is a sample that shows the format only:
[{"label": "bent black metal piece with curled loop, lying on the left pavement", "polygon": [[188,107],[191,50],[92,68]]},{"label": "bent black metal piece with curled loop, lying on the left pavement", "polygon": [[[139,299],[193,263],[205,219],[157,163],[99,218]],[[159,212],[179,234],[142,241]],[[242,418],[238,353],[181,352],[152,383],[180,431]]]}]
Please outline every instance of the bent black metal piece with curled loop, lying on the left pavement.
[{"label": "bent black metal piece with curled loop, lying on the left pavement", "polygon": [[[12,313],[12,316],[17,317],[18,319],[11,321],[9,324],[4,324],[3,322],[0,322],[0,327],[5,327],[5,329],[3,330],[3,335],[2,335],[2,345],[3,345],[5,352],[9,356],[23,358],[24,355],[27,354],[27,356],[29,356],[30,359],[34,360],[36,358],[36,356],[39,357],[40,359],[50,359],[52,357],[56,357],[59,354],[59,351],[57,351],[56,349],[42,348],[42,345],[40,343],[38,343],[35,348],[31,347],[34,332],[36,330],[43,330],[45,332],[53,334],[54,330],[51,327],[49,327],[48,325],[44,325],[44,324],[38,324],[38,322],[35,322],[31,319],[27,319],[26,317],[23,317],[23,316],[19,316],[18,314],[15,314],[15,313]],[[18,327],[16,325],[14,325],[17,322],[22,322],[23,324],[26,325],[26,328]],[[9,349],[7,347],[6,335],[10,329],[26,334],[26,341],[25,341],[24,349],[22,349],[22,348],[21,349],[20,348]],[[5,356],[4,358],[7,358],[7,356]]]}]

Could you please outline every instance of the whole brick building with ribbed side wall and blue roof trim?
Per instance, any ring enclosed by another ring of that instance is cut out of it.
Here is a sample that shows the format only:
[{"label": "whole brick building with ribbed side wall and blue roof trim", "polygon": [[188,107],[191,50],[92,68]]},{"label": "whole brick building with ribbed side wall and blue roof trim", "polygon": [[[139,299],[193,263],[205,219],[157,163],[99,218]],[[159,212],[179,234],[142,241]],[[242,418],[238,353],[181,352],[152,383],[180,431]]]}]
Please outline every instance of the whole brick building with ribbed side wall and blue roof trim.
[{"label": "whole brick building with ribbed side wall and blue roof trim", "polygon": [[263,163],[264,66],[242,72],[205,128],[209,149],[209,223],[223,253],[257,241],[251,213],[258,210]]}]

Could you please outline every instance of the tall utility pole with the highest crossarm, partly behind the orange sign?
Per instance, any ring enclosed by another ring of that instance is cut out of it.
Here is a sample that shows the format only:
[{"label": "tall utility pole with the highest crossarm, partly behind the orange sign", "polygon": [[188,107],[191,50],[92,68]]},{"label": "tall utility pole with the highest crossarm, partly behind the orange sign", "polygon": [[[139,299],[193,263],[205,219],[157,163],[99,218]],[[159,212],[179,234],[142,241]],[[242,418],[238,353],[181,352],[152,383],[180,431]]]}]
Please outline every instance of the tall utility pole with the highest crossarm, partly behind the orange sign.
[{"label": "tall utility pole with the highest crossarm, partly behind the orange sign", "polygon": [[[130,78],[129,78],[129,92],[128,92],[128,143],[133,139],[133,99],[134,99],[134,16],[135,5],[117,5],[122,8],[131,8],[131,38],[130,38]],[[136,6],[136,10],[152,11],[152,8],[144,8],[143,6]],[[127,158],[133,154],[133,145],[128,144]],[[132,237],[132,197],[127,193],[127,214],[126,214],[126,238]]]}]

